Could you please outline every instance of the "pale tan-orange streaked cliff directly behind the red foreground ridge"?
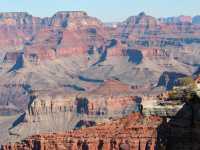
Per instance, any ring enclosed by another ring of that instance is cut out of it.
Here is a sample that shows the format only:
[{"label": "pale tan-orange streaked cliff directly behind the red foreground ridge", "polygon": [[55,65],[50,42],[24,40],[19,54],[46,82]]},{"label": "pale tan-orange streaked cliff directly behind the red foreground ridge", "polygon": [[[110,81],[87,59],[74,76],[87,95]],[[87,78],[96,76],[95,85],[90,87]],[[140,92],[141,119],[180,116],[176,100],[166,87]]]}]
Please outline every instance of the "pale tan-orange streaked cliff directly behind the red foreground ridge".
[{"label": "pale tan-orange streaked cliff directly behind the red foreground ridge", "polygon": [[140,112],[141,100],[138,103],[139,97],[132,91],[129,85],[114,79],[105,81],[91,92],[34,91],[26,112],[11,125],[8,139],[19,141],[37,133],[90,127]]}]

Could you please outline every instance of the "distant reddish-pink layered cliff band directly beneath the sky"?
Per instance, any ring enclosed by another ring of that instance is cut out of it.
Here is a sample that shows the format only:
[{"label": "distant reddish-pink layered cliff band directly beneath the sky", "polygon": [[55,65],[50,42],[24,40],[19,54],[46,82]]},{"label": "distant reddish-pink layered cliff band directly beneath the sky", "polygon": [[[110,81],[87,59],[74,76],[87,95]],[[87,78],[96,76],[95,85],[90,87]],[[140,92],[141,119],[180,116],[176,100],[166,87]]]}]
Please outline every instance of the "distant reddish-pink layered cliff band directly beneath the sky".
[{"label": "distant reddish-pink layered cliff band directly beneath the sky", "polygon": [[[173,55],[173,59],[183,61],[172,50],[194,52],[194,45],[199,44],[200,26],[186,16],[169,23],[164,18],[140,13],[115,27],[107,27],[97,18],[79,11],[57,12],[49,18],[33,17],[28,13],[0,15],[0,30],[4,33],[0,38],[1,49],[23,49],[28,59],[37,61],[87,55],[89,50],[99,53],[99,57],[104,53],[124,56],[128,50],[135,49],[147,58],[169,59]],[[110,40],[117,42],[108,46],[106,43]]]}]

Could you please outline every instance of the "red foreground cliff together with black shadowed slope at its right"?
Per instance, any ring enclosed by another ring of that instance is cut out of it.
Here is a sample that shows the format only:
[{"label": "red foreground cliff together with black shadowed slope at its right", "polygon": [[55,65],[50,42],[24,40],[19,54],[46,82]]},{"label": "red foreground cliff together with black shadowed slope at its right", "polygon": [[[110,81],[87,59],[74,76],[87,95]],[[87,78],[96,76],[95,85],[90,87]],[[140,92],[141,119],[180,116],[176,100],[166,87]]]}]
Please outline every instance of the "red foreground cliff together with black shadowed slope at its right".
[{"label": "red foreground cliff together with black shadowed slope at its right", "polygon": [[83,140],[87,141],[89,149],[92,150],[97,149],[100,141],[103,141],[104,150],[112,147],[112,141],[116,142],[116,148],[120,143],[128,141],[131,150],[198,150],[199,103],[183,104],[180,108],[176,113],[172,111],[175,114],[162,114],[162,117],[155,116],[158,115],[156,113],[153,116],[131,113],[94,127],[64,133],[33,135],[20,143],[3,145],[2,150],[77,150],[77,143]]}]

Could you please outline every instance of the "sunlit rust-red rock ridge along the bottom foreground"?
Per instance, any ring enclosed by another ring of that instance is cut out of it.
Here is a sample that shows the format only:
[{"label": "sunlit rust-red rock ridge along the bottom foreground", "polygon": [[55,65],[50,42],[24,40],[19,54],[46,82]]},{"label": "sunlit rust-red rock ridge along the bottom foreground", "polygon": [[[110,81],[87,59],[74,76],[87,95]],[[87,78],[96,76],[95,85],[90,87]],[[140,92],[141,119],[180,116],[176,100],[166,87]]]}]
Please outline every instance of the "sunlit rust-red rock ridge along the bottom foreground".
[{"label": "sunlit rust-red rock ridge along the bottom foreground", "polygon": [[103,149],[110,150],[110,141],[117,145],[128,140],[131,150],[154,150],[157,143],[157,128],[162,119],[156,116],[144,117],[139,113],[66,133],[33,135],[21,143],[2,146],[2,150],[77,150],[78,140],[87,140],[90,150],[97,150],[99,140],[103,140]]}]

